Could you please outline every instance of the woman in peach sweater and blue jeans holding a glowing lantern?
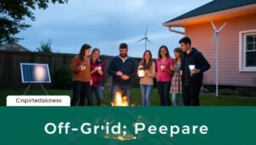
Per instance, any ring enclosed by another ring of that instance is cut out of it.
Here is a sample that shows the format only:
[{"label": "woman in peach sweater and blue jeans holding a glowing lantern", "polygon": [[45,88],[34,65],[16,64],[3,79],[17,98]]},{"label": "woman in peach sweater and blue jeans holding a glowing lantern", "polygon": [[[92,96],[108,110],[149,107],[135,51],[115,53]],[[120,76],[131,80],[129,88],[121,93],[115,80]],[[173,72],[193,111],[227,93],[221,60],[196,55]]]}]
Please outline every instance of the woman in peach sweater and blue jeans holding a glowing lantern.
[{"label": "woman in peach sweater and blue jeans holding a glowing lantern", "polygon": [[140,87],[143,96],[143,106],[150,106],[150,94],[153,90],[155,77],[155,64],[152,59],[152,53],[147,50],[143,54],[143,60],[138,67],[138,76],[140,79]]}]

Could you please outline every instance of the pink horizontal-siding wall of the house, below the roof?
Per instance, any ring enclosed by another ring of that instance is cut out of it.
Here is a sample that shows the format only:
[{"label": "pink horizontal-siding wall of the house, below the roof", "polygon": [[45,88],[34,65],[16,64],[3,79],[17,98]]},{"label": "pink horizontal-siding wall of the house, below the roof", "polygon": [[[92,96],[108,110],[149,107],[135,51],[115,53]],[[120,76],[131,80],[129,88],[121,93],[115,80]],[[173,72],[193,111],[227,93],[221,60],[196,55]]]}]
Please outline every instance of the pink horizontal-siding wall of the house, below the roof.
[{"label": "pink horizontal-siding wall of the house, below the roof", "polygon": [[[214,21],[217,27],[227,22],[221,31],[221,42],[218,49],[219,85],[224,86],[253,86],[253,78],[256,72],[239,71],[239,32],[256,30],[256,14],[235,17],[228,20]],[[212,69],[205,73],[204,84],[215,84],[215,41],[211,42],[214,34],[212,25],[204,23],[200,25],[189,25],[185,27],[186,36],[192,39],[192,46],[199,49]]]}]

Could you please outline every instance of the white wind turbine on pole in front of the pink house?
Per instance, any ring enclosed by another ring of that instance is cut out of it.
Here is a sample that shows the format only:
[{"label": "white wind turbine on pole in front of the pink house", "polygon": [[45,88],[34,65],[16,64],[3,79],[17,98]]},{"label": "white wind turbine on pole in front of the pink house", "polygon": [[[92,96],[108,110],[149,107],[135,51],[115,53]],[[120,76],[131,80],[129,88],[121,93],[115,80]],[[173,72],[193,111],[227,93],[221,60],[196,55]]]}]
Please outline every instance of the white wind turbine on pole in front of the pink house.
[{"label": "white wind turbine on pole in front of the pink house", "polygon": [[219,44],[219,33],[220,31],[222,31],[225,27],[225,25],[227,25],[227,23],[224,23],[224,25],[222,25],[219,29],[216,28],[216,26],[214,25],[214,23],[211,21],[212,24],[212,28],[215,31],[214,36],[212,36],[212,41],[215,40],[216,41],[216,97],[218,97],[218,44]]}]

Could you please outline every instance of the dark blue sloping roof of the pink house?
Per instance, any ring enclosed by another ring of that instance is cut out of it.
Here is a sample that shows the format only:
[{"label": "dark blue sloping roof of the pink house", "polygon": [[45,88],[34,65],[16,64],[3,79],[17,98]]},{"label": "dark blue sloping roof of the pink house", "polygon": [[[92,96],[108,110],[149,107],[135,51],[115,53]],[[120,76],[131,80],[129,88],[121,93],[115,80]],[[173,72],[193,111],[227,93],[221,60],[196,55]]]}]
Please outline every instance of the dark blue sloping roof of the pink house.
[{"label": "dark blue sloping roof of the pink house", "polygon": [[246,6],[253,3],[256,3],[256,0],[213,0],[212,2],[207,3],[199,8],[195,8],[194,10],[186,14],[180,15],[177,18],[166,21],[166,23],[174,22],[177,20],[184,20],[191,17],[199,16],[202,14],[211,14],[214,12],[218,12],[218,11],[222,11],[230,8],[238,8],[238,7]]}]

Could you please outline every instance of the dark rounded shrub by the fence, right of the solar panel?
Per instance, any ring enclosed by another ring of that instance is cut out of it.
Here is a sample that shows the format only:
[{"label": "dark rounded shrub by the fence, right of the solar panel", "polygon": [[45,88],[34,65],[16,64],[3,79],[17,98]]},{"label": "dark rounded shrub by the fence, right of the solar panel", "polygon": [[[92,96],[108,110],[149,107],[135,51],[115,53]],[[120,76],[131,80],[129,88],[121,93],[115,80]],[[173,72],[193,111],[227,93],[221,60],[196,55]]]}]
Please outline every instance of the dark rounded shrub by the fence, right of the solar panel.
[{"label": "dark rounded shrub by the fence, right of the solar panel", "polygon": [[53,84],[55,89],[71,89],[72,88],[72,73],[67,67],[55,70]]}]

